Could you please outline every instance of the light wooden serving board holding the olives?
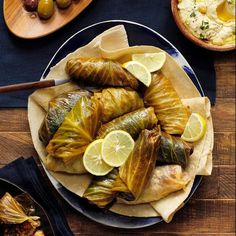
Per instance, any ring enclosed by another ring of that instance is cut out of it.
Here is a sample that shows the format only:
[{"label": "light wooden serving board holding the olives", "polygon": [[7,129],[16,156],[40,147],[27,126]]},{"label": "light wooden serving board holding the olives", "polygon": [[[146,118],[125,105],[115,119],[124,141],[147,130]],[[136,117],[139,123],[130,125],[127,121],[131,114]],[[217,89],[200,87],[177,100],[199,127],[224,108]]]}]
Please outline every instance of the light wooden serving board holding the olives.
[{"label": "light wooden serving board holding the olives", "polygon": [[9,30],[20,38],[34,39],[60,29],[80,14],[92,0],[73,0],[66,9],[59,9],[55,2],[54,14],[41,20],[36,12],[27,12],[22,0],[4,0],[4,19]]}]

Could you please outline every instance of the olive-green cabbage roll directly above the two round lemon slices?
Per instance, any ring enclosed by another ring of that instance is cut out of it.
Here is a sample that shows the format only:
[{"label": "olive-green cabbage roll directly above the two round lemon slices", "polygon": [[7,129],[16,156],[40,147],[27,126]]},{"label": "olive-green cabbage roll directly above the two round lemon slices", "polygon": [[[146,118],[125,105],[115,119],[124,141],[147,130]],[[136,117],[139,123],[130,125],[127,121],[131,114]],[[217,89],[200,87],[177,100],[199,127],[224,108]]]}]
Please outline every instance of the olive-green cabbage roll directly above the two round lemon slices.
[{"label": "olive-green cabbage roll directly above the two round lemon slices", "polygon": [[124,130],[136,138],[143,129],[152,129],[156,124],[154,109],[141,108],[103,124],[98,130],[97,138],[104,138],[113,130]]}]

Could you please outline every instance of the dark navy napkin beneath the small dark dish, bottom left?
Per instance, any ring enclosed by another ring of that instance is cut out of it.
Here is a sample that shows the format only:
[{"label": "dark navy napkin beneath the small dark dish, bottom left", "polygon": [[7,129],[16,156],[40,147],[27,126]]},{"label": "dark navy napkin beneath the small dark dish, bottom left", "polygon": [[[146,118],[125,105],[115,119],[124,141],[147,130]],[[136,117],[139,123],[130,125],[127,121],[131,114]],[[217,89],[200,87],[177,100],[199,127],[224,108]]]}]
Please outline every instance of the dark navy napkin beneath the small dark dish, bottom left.
[{"label": "dark navy napkin beneath the small dark dish, bottom left", "polygon": [[[34,159],[23,157],[0,169],[0,178],[28,192],[47,212],[55,236],[72,236],[66,218]],[[48,180],[47,180],[48,181]],[[58,196],[57,196],[58,197]],[[46,232],[45,232],[46,233]]]}]

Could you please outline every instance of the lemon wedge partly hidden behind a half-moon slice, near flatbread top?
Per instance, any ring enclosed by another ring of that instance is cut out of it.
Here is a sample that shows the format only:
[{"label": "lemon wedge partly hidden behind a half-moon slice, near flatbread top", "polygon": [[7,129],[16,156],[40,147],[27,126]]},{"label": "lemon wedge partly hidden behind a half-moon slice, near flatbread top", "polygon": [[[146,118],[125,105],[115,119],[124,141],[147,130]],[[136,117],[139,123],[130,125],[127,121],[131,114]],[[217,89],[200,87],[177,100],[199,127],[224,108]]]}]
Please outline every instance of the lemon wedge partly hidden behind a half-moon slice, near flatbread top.
[{"label": "lemon wedge partly hidden behind a half-moon slice, near flatbread top", "polygon": [[160,70],[166,61],[165,52],[133,54],[132,60],[143,64],[149,72]]}]

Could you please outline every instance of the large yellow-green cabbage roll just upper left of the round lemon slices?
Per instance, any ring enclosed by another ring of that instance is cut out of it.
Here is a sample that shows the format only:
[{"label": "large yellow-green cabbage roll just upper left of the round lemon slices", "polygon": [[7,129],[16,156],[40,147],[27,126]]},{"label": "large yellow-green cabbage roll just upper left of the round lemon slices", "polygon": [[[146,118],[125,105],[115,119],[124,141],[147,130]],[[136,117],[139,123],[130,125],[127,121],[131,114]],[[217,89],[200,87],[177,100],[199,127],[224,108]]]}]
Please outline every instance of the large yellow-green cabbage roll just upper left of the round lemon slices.
[{"label": "large yellow-green cabbage roll just upper left of the round lemon slices", "polygon": [[99,102],[81,97],[50,140],[46,148],[48,154],[64,162],[81,157],[87,145],[95,138],[100,119]]}]

